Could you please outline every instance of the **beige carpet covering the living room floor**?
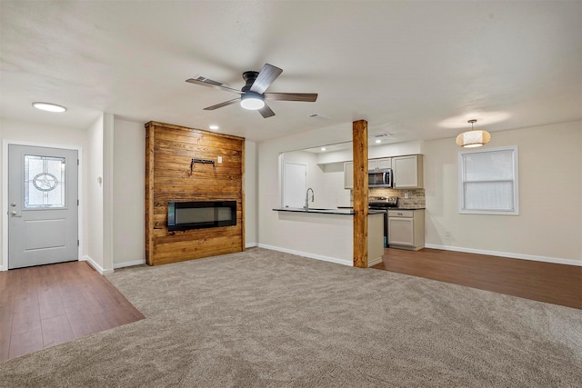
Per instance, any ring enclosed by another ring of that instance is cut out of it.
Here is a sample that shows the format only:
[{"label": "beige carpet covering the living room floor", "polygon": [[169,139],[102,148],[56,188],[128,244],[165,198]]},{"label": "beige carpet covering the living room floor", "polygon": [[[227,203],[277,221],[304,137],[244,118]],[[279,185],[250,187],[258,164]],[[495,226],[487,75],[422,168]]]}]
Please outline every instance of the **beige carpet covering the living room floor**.
[{"label": "beige carpet covering the living room floor", "polygon": [[582,382],[573,308],[260,248],[108,278],[146,319],[0,363],[0,386]]}]

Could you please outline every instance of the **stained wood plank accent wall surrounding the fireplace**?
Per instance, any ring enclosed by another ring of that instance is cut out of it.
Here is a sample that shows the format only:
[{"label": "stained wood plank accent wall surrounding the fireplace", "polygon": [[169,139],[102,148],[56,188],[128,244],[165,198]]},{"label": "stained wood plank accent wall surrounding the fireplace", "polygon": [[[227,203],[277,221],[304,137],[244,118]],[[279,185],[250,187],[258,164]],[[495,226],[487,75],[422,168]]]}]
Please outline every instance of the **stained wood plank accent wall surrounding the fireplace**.
[{"label": "stained wood plank accent wall surrounding the fireplace", "polygon": [[[218,164],[222,156],[222,164]],[[192,158],[214,160],[194,164]],[[245,250],[245,139],[184,126],[146,124],[146,263]],[[236,201],[236,225],[167,230],[168,201]]]}]

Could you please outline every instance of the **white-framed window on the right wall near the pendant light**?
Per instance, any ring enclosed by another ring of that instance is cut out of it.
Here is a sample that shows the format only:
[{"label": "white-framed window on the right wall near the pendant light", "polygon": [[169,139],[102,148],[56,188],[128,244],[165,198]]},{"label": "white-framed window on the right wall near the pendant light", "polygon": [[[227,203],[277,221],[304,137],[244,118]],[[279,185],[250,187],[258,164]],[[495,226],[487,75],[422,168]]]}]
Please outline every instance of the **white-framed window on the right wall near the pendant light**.
[{"label": "white-framed window on the right wall near the pendant light", "polygon": [[458,154],[459,213],[519,214],[517,146]]}]

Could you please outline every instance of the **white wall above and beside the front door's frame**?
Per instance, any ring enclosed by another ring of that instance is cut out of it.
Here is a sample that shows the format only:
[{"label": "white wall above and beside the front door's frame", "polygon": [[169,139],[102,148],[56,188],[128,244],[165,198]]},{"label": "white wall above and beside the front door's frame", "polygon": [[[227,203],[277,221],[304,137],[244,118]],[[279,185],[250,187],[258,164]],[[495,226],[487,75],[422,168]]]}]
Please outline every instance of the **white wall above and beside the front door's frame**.
[{"label": "white wall above and beside the front door's frame", "polygon": [[[86,164],[84,160],[86,160],[86,131],[85,128],[62,128],[62,127],[55,127],[50,125],[43,125],[43,124],[31,124],[22,121],[15,121],[9,119],[1,119],[0,121],[0,139],[8,142],[18,142],[18,143],[26,143],[26,144],[45,144],[45,145],[52,145],[52,146],[61,146],[61,147],[74,147],[79,148],[81,150],[80,156],[82,158],[82,174],[81,180],[79,181],[79,187],[82,193],[82,197],[80,198],[82,202],[86,202],[86,180],[84,179]],[[3,153],[3,150],[0,150],[0,153]],[[7,171],[7,166],[2,165],[4,161],[5,155],[0,155],[0,171],[5,170]],[[4,192],[5,187],[3,187]],[[0,198],[2,204],[5,204],[5,198],[3,196]],[[80,218],[82,220],[81,230],[86,231],[86,224],[87,224],[87,207],[81,206],[83,213],[80,214]],[[3,214],[4,216],[4,214]],[[5,234],[6,233],[6,234]],[[7,231],[3,230],[3,225],[0,225],[0,235],[7,236]],[[81,240],[81,254],[86,253],[86,244],[84,244],[87,240],[87,235],[84,233],[80,236]],[[3,245],[2,240],[0,240],[0,266],[1,269],[7,269],[7,246]]]}]

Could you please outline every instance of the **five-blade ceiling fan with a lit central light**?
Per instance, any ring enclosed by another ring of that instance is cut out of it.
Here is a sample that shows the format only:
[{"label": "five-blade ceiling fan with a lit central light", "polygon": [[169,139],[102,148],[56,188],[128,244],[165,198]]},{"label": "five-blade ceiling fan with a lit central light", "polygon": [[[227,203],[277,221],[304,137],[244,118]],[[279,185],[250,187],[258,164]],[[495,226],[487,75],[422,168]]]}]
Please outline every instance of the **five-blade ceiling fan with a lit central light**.
[{"label": "five-blade ceiling fan with a lit central light", "polygon": [[276,78],[283,73],[283,70],[274,66],[265,64],[260,72],[245,72],[243,79],[246,84],[241,90],[233,89],[223,85],[220,82],[211,80],[209,78],[198,76],[197,78],[187,79],[186,82],[195,85],[203,85],[214,87],[215,89],[224,90],[226,92],[236,93],[240,97],[233,100],[225,101],[224,103],[207,106],[205,111],[214,111],[223,106],[240,103],[245,109],[257,110],[264,118],[275,115],[275,112],[266,104],[265,100],[279,100],[279,101],[304,101],[313,103],[317,99],[316,93],[265,93],[266,89],[276,80]]}]

